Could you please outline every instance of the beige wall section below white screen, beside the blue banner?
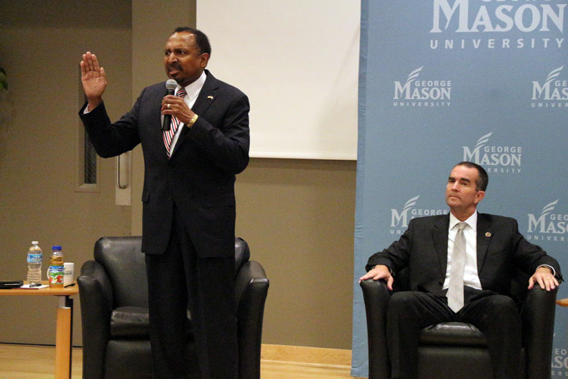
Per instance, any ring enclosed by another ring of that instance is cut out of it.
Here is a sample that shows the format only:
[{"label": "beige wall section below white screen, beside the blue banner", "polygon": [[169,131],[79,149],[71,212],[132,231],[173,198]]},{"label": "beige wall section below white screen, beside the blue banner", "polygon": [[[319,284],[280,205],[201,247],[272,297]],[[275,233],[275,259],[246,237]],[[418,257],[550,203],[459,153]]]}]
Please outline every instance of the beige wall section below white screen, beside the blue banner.
[{"label": "beige wall section below white screen, beside the blue banner", "polygon": [[264,343],[351,348],[355,166],[255,158],[237,176],[236,233],[270,279]]}]

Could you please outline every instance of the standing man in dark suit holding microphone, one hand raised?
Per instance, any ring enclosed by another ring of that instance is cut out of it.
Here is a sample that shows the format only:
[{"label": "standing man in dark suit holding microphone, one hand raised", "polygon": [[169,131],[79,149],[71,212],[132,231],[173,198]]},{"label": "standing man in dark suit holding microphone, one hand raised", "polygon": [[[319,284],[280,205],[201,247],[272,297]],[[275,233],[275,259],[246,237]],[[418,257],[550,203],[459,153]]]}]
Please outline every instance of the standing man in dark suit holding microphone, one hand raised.
[{"label": "standing man in dark suit holding microphone, one hand raised", "polygon": [[[94,54],[84,54],[87,104],[79,114],[103,157],[142,145],[154,378],[187,377],[187,309],[201,377],[236,378],[234,183],[249,163],[249,100],[205,70],[211,47],[200,30],[176,28],[164,53],[166,74],[178,83],[175,96],[163,82],[151,85],[116,123],[102,99],[105,70]],[[167,114],[171,134],[162,132]]]}]

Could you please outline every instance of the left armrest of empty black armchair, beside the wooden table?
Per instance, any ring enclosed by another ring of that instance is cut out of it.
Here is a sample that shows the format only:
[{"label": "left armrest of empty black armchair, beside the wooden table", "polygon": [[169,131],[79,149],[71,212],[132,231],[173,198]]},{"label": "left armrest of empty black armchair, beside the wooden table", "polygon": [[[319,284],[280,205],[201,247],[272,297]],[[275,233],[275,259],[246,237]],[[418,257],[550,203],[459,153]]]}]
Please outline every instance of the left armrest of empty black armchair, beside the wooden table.
[{"label": "left armrest of empty black armchair, beside the wooden table", "polygon": [[83,379],[105,377],[105,354],[110,336],[112,286],[104,267],[88,260],[77,278],[83,329]]}]

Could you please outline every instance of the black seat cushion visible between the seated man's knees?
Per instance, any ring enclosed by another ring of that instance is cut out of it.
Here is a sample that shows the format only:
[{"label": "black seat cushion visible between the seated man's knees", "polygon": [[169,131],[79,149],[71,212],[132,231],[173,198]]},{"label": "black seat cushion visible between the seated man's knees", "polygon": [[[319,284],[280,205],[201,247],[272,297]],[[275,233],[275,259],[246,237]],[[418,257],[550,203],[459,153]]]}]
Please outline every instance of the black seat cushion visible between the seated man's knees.
[{"label": "black seat cushion visible between the seated man's knees", "polygon": [[421,345],[487,346],[487,338],[479,329],[465,322],[441,322],[420,332]]}]

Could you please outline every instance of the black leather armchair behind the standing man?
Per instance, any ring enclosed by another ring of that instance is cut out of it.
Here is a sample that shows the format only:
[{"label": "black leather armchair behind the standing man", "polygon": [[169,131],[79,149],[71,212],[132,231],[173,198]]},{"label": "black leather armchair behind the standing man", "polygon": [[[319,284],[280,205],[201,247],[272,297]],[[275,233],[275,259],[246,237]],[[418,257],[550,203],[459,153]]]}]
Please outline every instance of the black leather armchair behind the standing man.
[{"label": "black leather armchair behind the standing man", "polygon": [[[147,281],[142,238],[105,237],[77,279],[83,326],[83,379],[152,378]],[[269,280],[249,260],[249,245],[235,238],[239,378],[260,378],[260,342]],[[196,348],[188,312],[190,375],[197,378]],[[192,376],[192,377],[193,377]]]}]

